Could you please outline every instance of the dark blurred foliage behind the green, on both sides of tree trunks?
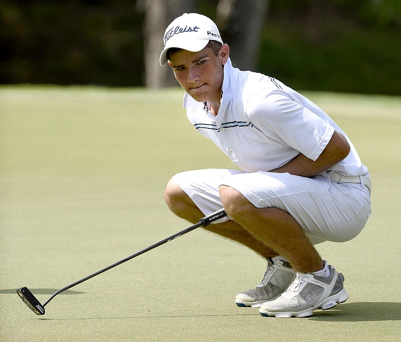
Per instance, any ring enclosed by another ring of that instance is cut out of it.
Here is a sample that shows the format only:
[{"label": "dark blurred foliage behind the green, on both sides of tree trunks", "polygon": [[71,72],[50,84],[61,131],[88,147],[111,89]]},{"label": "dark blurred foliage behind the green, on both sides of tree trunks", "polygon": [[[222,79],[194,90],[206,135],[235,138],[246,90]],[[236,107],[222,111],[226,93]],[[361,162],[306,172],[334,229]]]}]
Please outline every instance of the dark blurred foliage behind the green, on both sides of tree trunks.
[{"label": "dark blurred foliage behind the green, on both sides of tree trunks", "polygon": [[[149,2],[1,0],[0,83],[143,86]],[[215,19],[227,0],[186,3]],[[399,0],[270,0],[265,17],[255,71],[295,89],[401,92]]]}]

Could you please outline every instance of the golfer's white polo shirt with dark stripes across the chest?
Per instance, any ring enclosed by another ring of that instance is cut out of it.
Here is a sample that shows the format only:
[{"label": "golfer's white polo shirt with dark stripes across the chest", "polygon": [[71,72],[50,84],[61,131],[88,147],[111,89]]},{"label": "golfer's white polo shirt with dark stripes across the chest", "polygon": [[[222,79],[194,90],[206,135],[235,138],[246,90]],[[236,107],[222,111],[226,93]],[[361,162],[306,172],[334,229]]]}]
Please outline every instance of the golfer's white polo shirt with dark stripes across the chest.
[{"label": "golfer's white polo shirt with dark stripes across the chest", "polygon": [[[347,176],[368,173],[346,134],[317,105],[280,81],[224,66],[223,96],[218,115],[187,93],[183,106],[189,121],[246,172],[270,171],[299,153],[316,160],[334,130],[351,146],[348,156],[331,169]],[[329,170],[327,170],[329,171]]]}]

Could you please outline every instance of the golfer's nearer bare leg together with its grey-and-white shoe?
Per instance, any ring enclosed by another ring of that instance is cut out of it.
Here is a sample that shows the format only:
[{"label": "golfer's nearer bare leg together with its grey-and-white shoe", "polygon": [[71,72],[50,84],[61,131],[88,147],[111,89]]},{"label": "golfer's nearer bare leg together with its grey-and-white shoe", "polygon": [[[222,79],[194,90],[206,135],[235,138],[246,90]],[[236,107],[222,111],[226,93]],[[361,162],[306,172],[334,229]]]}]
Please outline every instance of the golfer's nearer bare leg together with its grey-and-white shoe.
[{"label": "golfer's nearer bare leg together with its grey-and-white shoe", "polygon": [[261,304],[261,315],[307,317],[315,309],[325,310],[348,299],[343,275],[320,258],[290,214],[273,207],[257,208],[228,186],[221,186],[219,191],[227,214],[297,270],[285,292]]}]

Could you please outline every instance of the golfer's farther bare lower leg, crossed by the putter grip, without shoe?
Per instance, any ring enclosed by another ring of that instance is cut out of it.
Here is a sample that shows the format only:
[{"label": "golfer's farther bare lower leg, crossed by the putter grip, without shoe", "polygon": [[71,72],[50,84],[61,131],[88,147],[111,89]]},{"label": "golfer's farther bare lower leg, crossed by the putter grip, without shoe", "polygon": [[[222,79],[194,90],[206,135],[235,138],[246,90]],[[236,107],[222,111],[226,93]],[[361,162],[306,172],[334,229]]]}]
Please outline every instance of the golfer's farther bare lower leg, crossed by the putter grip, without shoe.
[{"label": "golfer's farther bare lower leg, crossed by the putter grip, without shoe", "polygon": [[[167,206],[175,215],[191,223],[196,223],[199,221],[200,217],[205,216],[174,180],[168,182],[164,192],[164,199]],[[256,238],[240,224],[232,220],[219,224],[212,224],[205,227],[205,229],[239,242],[265,258],[278,255],[278,253],[269,248],[262,240]]]}]

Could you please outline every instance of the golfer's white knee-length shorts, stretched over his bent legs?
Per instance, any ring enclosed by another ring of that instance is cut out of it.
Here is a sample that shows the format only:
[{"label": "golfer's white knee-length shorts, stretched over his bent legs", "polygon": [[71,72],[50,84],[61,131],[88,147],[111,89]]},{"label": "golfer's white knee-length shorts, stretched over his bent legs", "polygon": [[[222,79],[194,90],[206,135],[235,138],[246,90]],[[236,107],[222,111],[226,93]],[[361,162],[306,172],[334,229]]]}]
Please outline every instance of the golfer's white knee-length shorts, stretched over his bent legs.
[{"label": "golfer's white knee-length shorts, stretched over his bent legs", "polygon": [[282,209],[301,225],[312,244],[353,239],[371,213],[370,193],[363,184],[333,183],[327,173],[305,178],[288,173],[203,169],[179,173],[173,180],[205,215],[223,207],[221,185],[236,189],[257,208]]}]

